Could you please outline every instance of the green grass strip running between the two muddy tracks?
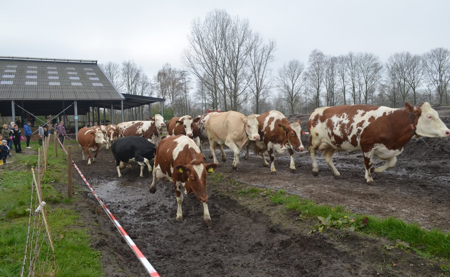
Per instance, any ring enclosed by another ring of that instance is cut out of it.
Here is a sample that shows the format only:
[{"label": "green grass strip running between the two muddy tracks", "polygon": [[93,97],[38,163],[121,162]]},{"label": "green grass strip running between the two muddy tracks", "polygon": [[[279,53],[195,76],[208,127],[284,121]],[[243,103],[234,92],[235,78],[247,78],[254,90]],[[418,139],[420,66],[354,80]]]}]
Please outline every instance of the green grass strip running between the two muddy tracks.
[{"label": "green grass strip running between the two muddy tracks", "polygon": [[[223,179],[223,178],[222,178]],[[290,195],[286,191],[248,187],[236,181],[226,186],[234,186],[235,194],[241,197],[266,197],[272,203],[284,205],[285,209],[298,213],[297,219],[314,220],[310,233],[326,232],[337,228],[346,232],[356,231],[360,234],[385,237],[395,241],[395,246],[413,250],[421,256],[436,256],[450,259],[450,234],[440,230],[424,230],[414,223],[405,223],[397,218],[377,218],[363,214],[351,213],[342,206],[315,204],[314,201],[299,195]]]}]

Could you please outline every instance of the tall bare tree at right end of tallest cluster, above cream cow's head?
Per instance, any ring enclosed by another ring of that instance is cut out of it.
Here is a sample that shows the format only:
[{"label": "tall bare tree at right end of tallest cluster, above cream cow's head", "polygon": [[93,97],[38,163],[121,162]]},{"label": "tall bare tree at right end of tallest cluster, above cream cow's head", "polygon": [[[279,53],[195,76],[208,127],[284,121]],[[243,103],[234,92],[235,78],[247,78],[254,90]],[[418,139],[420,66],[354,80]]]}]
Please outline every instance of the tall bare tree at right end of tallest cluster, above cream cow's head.
[{"label": "tall bare tree at right end of tallest cluster, above cream cow's head", "polygon": [[266,44],[260,33],[254,33],[249,36],[248,47],[249,65],[250,65],[250,91],[255,97],[255,113],[260,114],[259,105],[268,97],[270,90],[270,72],[269,64],[275,60],[274,52],[275,40],[269,40]]}]

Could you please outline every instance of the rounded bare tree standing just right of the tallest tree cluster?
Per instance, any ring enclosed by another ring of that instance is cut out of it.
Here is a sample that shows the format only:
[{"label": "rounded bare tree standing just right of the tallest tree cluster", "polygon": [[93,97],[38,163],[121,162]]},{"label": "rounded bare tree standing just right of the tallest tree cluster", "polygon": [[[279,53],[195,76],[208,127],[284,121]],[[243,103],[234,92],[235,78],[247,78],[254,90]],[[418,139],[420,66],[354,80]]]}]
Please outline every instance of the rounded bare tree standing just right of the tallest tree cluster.
[{"label": "rounded bare tree standing just right of the tallest tree cluster", "polygon": [[302,73],[305,65],[297,59],[290,60],[278,69],[278,90],[283,100],[289,105],[291,114],[300,101],[302,86]]}]

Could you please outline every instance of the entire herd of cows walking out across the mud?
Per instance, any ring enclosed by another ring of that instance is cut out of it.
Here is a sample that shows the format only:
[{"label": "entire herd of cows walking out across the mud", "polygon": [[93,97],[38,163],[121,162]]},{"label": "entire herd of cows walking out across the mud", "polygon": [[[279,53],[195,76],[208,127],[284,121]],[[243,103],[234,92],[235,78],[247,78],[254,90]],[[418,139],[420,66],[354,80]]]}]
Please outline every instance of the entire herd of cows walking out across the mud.
[{"label": "entire herd of cows walking out across the mud", "polygon": [[[166,127],[167,135],[162,136]],[[315,109],[308,119],[310,143],[308,152],[312,161],[312,173],[317,176],[319,168],[315,159],[316,150],[323,152],[335,178],[341,175],[333,164],[336,151],[362,151],[365,163],[365,178],[374,185],[371,173],[379,173],[393,168],[397,156],[405,144],[414,136],[450,137],[450,130],[441,121],[437,111],[427,102],[419,107],[405,103],[405,109],[393,109],[371,105],[343,105]],[[289,122],[282,113],[274,110],[261,115],[245,116],[235,111],[212,112],[193,118],[189,115],[171,118],[167,124],[161,115],[156,114],[146,121],[130,121],[108,126],[83,127],[78,132],[81,151],[86,152],[88,164],[94,151],[97,156],[101,144],[111,147],[116,160],[118,176],[120,169],[130,166],[130,162],[140,165],[143,176],[145,165],[153,172],[150,192],[155,193],[156,178],[173,182],[175,186],[178,211],[176,219],[182,220],[182,190],[187,195],[193,192],[203,204],[203,221],[211,226],[206,192],[206,175],[219,166],[216,158],[216,145],[225,162],[223,145],[234,152],[233,169],[238,169],[239,155],[244,145],[252,146],[255,154],[260,154],[264,165],[269,153],[270,173],[276,174],[274,150],[288,151],[291,157],[290,169],[295,170],[294,153],[304,150],[301,140],[300,120]],[[213,163],[205,163],[203,145],[210,143]],[[374,156],[386,160],[383,166],[372,167]],[[150,162],[154,160],[152,168]]]}]

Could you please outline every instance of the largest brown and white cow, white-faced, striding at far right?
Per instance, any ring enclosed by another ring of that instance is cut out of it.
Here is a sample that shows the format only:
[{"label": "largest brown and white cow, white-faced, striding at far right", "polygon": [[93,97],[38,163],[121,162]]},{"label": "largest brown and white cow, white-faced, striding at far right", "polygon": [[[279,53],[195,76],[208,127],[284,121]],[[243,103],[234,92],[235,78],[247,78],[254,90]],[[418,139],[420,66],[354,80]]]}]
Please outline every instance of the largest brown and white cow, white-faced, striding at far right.
[{"label": "largest brown and white cow, white-faced, striding at far right", "polygon": [[[365,178],[369,185],[374,185],[370,173],[393,168],[397,156],[412,137],[450,137],[450,130],[428,102],[417,108],[405,102],[405,108],[345,105],[315,109],[308,120],[308,151],[313,175],[319,174],[315,150],[324,151],[325,161],[336,179],[341,179],[341,174],[333,164],[333,154],[336,151],[362,151]],[[387,162],[373,168],[374,156]]]}]

